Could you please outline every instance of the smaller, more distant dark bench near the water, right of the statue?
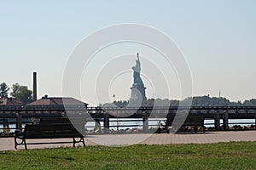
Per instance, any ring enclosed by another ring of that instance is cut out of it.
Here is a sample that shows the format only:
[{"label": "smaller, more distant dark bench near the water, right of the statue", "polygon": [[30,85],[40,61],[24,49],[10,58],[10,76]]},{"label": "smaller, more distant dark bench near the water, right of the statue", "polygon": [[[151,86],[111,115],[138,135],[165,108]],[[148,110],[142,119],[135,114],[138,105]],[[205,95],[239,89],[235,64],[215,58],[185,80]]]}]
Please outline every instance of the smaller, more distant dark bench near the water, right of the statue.
[{"label": "smaller, more distant dark bench near the water, right of the statue", "polygon": [[[170,130],[172,130],[172,123],[174,122],[175,116],[167,116],[166,124],[162,127],[163,131],[166,131],[167,133],[170,133]],[[178,122],[178,119],[182,119],[183,117],[176,117],[176,122]],[[181,121],[182,121],[181,120]],[[174,129],[177,131],[186,131],[186,127],[193,127],[195,133],[198,131],[198,127],[202,128],[203,133],[205,133],[205,126],[204,126],[205,116],[204,115],[189,115],[186,117],[186,120],[183,122],[182,126],[179,129]],[[176,132],[177,132],[176,131]]]}]

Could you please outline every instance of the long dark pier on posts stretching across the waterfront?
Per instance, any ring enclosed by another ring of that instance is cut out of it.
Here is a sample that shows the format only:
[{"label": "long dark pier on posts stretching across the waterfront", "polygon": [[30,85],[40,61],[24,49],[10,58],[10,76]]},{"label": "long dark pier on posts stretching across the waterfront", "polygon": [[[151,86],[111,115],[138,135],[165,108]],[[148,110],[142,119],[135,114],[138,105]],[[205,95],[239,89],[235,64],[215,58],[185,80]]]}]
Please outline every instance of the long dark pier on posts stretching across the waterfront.
[{"label": "long dark pier on posts stretching across the waterfront", "polygon": [[[149,129],[148,120],[150,118],[165,119],[167,116],[173,116],[178,112],[187,111],[189,112],[189,115],[204,115],[206,119],[214,120],[214,128],[216,130],[228,130],[229,121],[231,119],[251,119],[254,120],[253,124],[256,124],[256,106],[84,108],[86,109],[81,109],[76,105],[70,105],[69,107],[64,107],[64,105],[30,105],[25,107],[1,106],[0,121],[8,119],[12,120],[12,123],[16,123],[16,128],[20,129],[21,124],[29,122],[31,118],[67,116],[67,111],[75,111],[77,113],[79,112],[80,115],[86,116],[86,118],[91,122],[95,120],[97,120],[97,123],[102,122],[104,133],[109,133],[109,122],[111,122],[111,119],[116,119],[119,117],[127,118],[130,122],[134,121],[135,119],[139,120],[143,124],[143,133],[147,133]],[[120,122],[122,121],[120,120]],[[237,122],[237,124],[238,123],[239,122]],[[119,125],[119,127],[128,126]]]}]

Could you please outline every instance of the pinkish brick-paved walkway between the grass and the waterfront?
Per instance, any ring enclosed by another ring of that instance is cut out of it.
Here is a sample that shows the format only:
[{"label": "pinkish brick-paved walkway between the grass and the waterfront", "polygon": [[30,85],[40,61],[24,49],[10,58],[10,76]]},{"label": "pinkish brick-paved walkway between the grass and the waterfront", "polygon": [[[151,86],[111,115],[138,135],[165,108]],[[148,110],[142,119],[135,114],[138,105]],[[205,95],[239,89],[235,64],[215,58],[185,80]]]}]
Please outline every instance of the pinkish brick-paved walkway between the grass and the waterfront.
[{"label": "pinkish brick-paved walkway between the grass and the waterfront", "polygon": [[[67,141],[67,139],[40,139],[40,142]],[[72,139],[70,139],[72,141]],[[130,145],[130,144],[206,144],[231,141],[256,141],[256,131],[230,131],[209,133],[154,133],[154,134],[104,134],[88,135],[87,145]],[[28,142],[38,142],[30,139]],[[28,149],[71,147],[72,144],[28,145]],[[24,149],[20,145],[18,149]],[[0,150],[15,150],[13,138],[0,138]]]}]

